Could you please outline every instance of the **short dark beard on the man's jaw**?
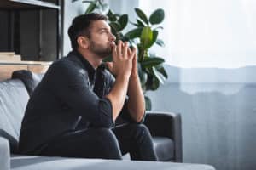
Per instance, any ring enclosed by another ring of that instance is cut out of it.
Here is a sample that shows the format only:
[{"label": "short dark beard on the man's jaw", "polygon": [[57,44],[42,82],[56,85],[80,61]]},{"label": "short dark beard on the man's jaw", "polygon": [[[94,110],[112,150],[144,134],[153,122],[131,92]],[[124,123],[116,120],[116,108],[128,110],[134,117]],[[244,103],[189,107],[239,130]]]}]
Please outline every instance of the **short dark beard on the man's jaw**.
[{"label": "short dark beard on the man's jaw", "polygon": [[109,44],[103,46],[102,44],[97,44],[92,40],[90,40],[90,50],[102,59],[108,57],[112,53],[112,48]]}]

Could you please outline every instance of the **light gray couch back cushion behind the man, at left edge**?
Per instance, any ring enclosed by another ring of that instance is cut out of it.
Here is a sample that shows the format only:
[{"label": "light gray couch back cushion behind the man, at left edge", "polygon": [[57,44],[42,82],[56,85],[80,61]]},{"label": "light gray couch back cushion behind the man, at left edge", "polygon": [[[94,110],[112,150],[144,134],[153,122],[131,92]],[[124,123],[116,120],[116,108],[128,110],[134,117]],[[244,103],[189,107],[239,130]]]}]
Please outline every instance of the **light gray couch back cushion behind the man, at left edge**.
[{"label": "light gray couch back cushion behind the man, at left edge", "polygon": [[21,121],[29,99],[20,80],[0,82],[0,136],[9,139],[10,149],[17,151]]}]

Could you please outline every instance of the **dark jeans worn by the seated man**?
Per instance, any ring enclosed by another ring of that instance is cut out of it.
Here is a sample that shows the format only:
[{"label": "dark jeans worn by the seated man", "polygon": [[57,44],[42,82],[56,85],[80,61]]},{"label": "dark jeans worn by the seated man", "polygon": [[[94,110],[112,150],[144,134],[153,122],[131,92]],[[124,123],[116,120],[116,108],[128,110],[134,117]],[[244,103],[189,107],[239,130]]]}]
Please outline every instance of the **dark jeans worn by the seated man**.
[{"label": "dark jeans worn by the seated man", "polygon": [[40,155],[122,159],[128,152],[132,160],[157,161],[151,135],[143,124],[66,133],[49,143]]}]

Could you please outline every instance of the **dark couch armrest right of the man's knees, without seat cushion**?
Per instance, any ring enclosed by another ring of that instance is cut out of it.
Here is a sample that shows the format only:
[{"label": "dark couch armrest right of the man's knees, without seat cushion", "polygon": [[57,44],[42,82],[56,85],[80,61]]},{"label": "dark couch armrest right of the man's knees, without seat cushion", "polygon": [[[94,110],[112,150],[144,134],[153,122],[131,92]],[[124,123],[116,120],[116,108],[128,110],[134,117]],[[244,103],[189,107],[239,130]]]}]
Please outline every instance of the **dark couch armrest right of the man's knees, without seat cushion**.
[{"label": "dark couch armrest right of the man's knees, without seat cushion", "polygon": [[182,161],[182,125],[179,113],[165,111],[147,111],[144,124],[152,136],[167,137],[174,142],[174,157]]}]

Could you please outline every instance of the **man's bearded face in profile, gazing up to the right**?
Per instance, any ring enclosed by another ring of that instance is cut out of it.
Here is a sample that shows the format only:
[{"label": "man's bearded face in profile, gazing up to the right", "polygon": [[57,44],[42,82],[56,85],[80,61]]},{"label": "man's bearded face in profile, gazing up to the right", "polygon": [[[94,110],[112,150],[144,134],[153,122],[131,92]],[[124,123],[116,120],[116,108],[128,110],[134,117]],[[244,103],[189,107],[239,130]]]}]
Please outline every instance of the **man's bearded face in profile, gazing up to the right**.
[{"label": "man's bearded face in profile, gazing up to the right", "polygon": [[107,57],[112,52],[111,44],[115,37],[111,33],[110,26],[105,20],[96,20],[90,28],[90,51],[101,58]]}]

